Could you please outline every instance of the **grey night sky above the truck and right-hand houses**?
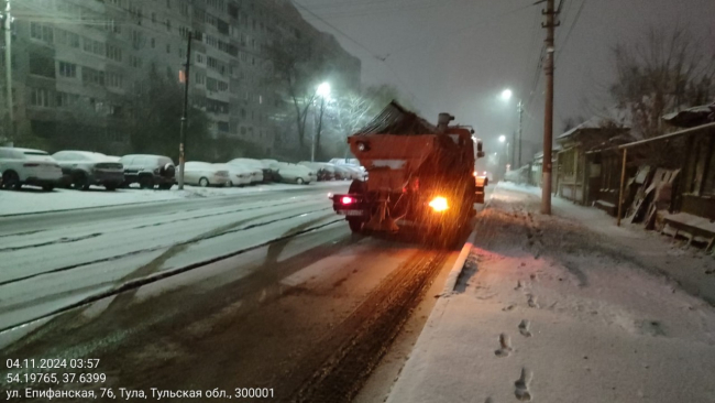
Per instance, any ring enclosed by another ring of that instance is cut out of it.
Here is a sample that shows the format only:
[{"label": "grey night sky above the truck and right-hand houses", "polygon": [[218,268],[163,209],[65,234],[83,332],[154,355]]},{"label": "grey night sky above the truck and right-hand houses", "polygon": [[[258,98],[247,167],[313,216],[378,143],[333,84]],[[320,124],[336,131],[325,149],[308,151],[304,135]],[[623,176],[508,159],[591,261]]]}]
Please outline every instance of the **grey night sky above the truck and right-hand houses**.
[{"label": "grey night sky above the truck and right-hand houses", "polygon": [[[516,98],[524,99],[526,160],[543,135],[544,79],[537,64],[544,4],[534,2],[298,0],[332,28],[304,10],[308,21],[362,59],[364,84],[397,86],[430,121],[440,111],[455,115],[487,148],[516,130]],[[590,118],[610,104],[616,44],[642,39],[650,26],[683,26],[715,53],[715,0],[564,0],[560,20],[554,137],[564,119]],[[506,87],[515,92],[509,104],[498,98]]]}]

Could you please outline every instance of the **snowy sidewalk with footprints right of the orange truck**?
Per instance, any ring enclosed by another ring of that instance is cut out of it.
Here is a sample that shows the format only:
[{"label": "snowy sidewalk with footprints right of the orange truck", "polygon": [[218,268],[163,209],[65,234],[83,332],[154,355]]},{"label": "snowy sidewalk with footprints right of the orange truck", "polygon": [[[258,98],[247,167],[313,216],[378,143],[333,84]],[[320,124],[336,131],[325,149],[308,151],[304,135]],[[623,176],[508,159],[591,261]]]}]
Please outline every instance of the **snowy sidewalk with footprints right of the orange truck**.
[{"label": "snowy sidewalk with footprints right of the orange truck", "polygon": [[685,292],[715,297],[715,261],[596,209],[538,209],[497,187],[387,402],[715,402],[715,308]]}]

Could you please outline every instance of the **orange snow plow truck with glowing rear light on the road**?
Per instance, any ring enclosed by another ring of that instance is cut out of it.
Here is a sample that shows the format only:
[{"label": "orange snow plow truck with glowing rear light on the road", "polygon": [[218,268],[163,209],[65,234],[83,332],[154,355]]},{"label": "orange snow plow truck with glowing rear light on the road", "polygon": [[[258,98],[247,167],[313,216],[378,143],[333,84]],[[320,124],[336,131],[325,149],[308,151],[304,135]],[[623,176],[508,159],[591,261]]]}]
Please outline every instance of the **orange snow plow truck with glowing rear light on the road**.
[{"label": "orange snow plow truck with glowing rear light on the road", "polygon": [[428,239],[447,241],[484,203],[483,177],[475,177],[482,142],[469,127],[437,126],[391,102],[373,121],[348,138],[350,150],[367,172],[348,194],[333,195],[333,209],[353,232],[397,232],[413,227]]}]

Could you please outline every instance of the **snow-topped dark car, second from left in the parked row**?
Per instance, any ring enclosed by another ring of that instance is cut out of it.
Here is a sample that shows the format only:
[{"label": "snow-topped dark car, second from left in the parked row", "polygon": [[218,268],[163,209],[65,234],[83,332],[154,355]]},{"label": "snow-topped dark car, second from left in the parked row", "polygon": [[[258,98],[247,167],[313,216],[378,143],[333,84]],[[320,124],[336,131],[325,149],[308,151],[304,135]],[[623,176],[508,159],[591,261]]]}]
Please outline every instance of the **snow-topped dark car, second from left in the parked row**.
[{"label": "snow-topped dark car, second from left in the parked row", "polygon": [[124,183],[124,167],[107,155],[88,151],[58,151],[52,155],[62,167],[64,186],[87,190],[102,185],[114,190]]}]

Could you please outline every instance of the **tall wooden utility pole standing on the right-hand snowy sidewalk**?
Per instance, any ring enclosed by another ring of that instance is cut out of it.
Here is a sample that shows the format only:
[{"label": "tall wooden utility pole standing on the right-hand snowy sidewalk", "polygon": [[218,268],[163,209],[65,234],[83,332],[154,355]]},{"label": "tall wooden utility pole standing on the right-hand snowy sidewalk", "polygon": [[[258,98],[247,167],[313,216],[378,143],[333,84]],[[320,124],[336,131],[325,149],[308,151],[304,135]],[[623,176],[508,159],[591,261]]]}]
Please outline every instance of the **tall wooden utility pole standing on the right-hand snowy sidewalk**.
[{"label": "tall wooden utility pole standing on the right-hand snowy sidewalk", "polygon": [[546,88],[546,108],[543,117],[543,164],[541,173],[541,214],[551,214],[551,149],[553,142],[553,37],[554,30],[559,25],[556,22],[556,14],[558,11],[553,7],[554,0],[547,0],[547,9],[541,11],[547,17],[546,24],[541,24],[547,29],[547,57],[546,66],[543,67],[547,76]]}]

